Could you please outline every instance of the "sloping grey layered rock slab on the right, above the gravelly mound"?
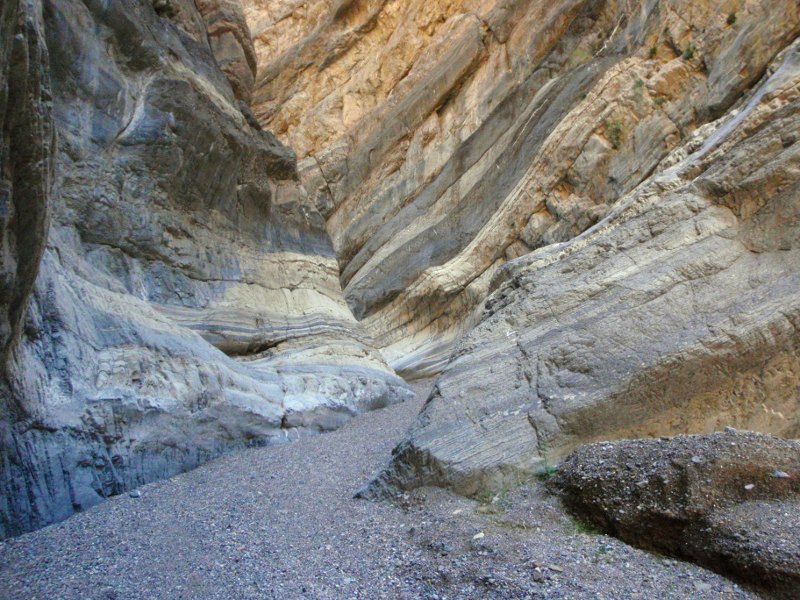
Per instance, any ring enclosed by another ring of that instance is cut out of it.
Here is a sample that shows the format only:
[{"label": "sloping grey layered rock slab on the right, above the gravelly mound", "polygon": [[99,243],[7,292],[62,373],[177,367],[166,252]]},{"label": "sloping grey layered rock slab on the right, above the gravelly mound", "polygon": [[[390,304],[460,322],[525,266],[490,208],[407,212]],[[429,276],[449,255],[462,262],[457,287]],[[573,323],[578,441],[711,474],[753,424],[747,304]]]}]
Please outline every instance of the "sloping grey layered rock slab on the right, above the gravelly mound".
[{"label": "sloping grey layered rock slab on the right, above the gravelly mound", "polygon": [[[599,85],[580,111],[606,104],[610,83]],[[498,272],[481,322],[367,493],[474,493],[615,437],[724,425],[800,435],[798,139],[795,42],[598,224]]]}]

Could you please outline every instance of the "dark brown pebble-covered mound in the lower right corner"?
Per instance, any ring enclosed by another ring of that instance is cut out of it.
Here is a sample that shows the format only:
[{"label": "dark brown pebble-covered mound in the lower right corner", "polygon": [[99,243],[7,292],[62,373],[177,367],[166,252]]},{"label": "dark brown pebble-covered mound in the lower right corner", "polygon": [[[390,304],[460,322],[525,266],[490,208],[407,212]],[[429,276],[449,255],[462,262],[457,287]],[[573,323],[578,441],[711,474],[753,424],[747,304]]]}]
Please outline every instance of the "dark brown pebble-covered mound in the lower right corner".
[{"label": "dark brown pebble-covered mound in the lower right corner", "polygon": [[592,525],[794,598],[800,442],[728,431],[581,447],[553,480]]}]

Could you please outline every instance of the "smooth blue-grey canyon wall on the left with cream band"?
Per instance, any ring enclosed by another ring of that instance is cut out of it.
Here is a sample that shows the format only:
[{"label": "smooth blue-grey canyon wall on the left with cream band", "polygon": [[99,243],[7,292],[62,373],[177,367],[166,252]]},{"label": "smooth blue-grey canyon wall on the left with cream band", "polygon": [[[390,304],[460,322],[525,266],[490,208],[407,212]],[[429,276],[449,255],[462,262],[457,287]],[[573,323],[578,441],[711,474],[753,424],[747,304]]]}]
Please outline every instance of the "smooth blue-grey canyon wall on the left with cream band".
[{"label": "smooth blue-grey canyon wall on the left with cream band", "polygon": [[242,102],[242,15],[3,3],[0,537],[410,395]]}]

